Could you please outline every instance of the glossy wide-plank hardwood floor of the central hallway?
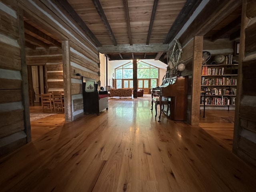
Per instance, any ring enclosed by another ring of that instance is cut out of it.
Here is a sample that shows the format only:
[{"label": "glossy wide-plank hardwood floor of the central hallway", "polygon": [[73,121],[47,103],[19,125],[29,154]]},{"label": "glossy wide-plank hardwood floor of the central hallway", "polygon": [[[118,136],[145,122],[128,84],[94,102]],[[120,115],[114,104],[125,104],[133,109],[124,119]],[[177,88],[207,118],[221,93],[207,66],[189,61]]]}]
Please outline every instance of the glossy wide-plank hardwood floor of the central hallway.
[{"label": "glossy wide-plank hardwood floor of the central hallway", "polygon": [[1,192],[255,191],[254,168],[200,126],[157,122],[150,105],[109,102],[1,158]]}]

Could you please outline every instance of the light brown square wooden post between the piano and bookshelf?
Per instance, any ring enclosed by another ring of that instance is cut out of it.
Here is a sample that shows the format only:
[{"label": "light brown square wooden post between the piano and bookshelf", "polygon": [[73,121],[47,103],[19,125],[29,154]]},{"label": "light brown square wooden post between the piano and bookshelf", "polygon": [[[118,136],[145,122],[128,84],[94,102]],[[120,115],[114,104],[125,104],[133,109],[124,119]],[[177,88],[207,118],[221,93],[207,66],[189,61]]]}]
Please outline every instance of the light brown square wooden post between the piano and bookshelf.
[{"label": "light brown square wooden post between the piano and bookshelf", "polygon": [[194,37],[193,69],[192,69],[192,102],[191,125],[199,125],[200,118],[200,90],[202,74],[203,36]]}]

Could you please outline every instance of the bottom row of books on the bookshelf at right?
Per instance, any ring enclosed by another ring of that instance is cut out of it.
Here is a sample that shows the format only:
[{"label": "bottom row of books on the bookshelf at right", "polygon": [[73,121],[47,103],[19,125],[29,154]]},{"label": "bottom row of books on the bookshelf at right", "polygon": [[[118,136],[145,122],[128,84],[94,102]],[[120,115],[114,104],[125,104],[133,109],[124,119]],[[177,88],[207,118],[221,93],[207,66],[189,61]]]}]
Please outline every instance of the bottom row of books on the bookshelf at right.
[{"label": "bottom row of books on the bookshelf at right", "polygon": [[[201,96],[201,104],[204,104],[204,96]],[[235,97],[206,97],[205,98],[206,105],[235,105],[236,98]]]}]

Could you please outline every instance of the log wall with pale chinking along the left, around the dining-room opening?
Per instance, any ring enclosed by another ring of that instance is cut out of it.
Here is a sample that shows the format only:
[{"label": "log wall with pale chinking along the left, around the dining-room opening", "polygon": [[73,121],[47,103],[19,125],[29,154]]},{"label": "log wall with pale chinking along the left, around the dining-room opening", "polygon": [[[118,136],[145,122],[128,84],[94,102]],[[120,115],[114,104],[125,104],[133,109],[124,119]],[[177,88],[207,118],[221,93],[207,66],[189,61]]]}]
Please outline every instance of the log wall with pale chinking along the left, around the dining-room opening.
[{"label": "log wall with pale chinking along the left, around the dining-room opening", "polygon": [[[23,15],[62,40],[62,49],[25,52]],[[51,0],[1,0],[0,25],[1,156],[31,140],[27,64],[46,65],[49,71],[54,70],[52,66],[62,68],[62,74],[61,69],[47,73],[48,88],[64,89],[65,118],[72,121],[84,115],[82,80],[76,73],[98,81],[100,60],[80,26]]]}]

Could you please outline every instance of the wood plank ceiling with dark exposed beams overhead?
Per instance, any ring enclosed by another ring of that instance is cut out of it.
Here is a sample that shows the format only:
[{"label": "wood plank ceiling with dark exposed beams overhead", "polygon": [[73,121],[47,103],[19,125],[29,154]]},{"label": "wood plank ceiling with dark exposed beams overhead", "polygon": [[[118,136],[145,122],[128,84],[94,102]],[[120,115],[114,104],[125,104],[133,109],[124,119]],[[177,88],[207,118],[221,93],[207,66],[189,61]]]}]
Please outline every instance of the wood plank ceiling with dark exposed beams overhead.
[{"label": "wood plank ceiling with dark exposed beams overhead", "polygon": [[[169,43],[202,0],[53,0],[66,9],[109,60],[167,63]],[[212,41],[239,37],[241,7],[206,33]],[[60,40],[24,18],[26,46],[61,47]]]}]

